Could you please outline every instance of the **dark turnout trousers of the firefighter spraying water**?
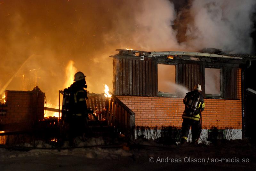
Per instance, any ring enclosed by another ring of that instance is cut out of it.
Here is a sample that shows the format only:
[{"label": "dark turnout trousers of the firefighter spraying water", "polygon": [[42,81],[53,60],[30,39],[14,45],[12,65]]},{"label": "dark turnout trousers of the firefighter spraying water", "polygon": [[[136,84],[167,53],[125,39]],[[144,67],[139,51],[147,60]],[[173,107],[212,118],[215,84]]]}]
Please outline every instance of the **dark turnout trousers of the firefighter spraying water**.
[{"label": "dark turnout trousers of the firefighter spraying water", "polygon": [[192,143],[196,142],[197,137],[199,136],[200,131],[200,120],[192,120],[192,119],[183,119],[182,128],[181,128],[181,140],[180,143],[186,143],[188,139],[189,129],[191,126],[191,134],[192,134]]}]

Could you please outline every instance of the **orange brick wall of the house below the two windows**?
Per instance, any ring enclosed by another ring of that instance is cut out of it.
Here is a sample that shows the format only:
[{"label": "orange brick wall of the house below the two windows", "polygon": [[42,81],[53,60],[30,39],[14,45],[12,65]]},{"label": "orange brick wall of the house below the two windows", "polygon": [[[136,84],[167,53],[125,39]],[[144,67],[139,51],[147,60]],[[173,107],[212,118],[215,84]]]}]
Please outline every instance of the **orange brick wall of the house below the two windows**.
[{"label": "orange brick wall of the house below the two windows", "polygon": [[[241,69],[237,72],[239,100],[204,99],[203,128],[242,128]],[[135,113],[136,126],[181,127],[183,98],[117,96]]]}]

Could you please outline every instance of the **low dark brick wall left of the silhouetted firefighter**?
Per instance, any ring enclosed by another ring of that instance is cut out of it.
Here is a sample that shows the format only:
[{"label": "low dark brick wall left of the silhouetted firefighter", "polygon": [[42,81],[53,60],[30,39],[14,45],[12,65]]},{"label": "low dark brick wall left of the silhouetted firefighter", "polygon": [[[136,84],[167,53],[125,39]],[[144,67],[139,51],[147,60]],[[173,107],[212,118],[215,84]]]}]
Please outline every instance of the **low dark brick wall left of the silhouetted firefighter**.
[{"label": "low dark brick wall left of the silhouetted firefighter", "polygon": [[0,105],[0,110],[6,111],[0,115],[1,127],[26,128],[34,121],[44,119],[44,93],[38,87],[32,91],[6,90],[5,96],[6,105]]}]

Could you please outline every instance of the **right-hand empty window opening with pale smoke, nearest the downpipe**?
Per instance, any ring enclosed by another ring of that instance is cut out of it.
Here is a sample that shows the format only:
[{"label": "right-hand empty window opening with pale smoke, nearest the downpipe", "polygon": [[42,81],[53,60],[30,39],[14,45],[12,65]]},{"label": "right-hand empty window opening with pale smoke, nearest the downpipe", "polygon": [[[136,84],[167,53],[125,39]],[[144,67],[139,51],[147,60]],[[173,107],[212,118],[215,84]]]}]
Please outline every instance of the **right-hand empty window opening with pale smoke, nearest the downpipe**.
[{"label": "right-hand empty window opening with pale smoke, nearest the downpipe", "polygon": [[204,68],[205,96],[221,97],[221,69]]}]

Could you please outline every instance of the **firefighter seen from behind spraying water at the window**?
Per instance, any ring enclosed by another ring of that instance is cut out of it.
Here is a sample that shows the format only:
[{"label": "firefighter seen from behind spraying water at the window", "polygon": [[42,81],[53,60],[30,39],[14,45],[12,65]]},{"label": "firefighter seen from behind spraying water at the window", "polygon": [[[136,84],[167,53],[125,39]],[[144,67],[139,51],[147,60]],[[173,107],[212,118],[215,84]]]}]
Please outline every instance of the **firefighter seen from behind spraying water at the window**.
[{"label": "firefighter seen from behind spraying water at the window", "polygon": [[204,111],[204,98],[200,92],[202,87],[200,84],[195,85],[193,91],[186,94],[183,99],[185,110],[182,115],[182,128],[181,128],[181,140],[180,144],[187,143],[188,133],[191,126],[192,143],[196,143],[196,140],[201,134],[200,118],[201,112]]}]

